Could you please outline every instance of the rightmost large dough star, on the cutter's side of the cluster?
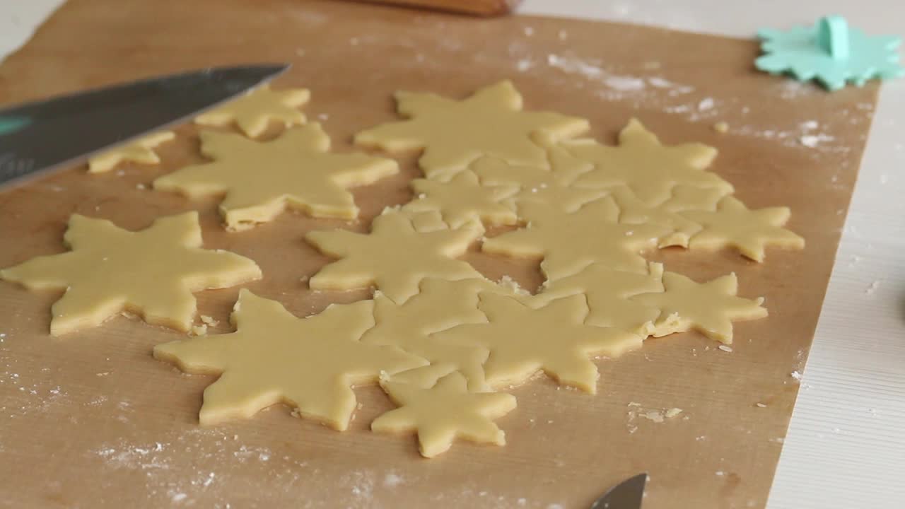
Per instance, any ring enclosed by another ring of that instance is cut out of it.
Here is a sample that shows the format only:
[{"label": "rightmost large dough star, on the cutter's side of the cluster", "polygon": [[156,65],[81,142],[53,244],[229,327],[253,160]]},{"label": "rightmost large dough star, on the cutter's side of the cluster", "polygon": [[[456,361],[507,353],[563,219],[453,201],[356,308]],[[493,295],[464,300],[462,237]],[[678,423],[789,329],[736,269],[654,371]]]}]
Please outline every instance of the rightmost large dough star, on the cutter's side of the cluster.
[{"label": "rightmost large dough star, on the cutter's side of the cluster", "polygon": [[651,131],[636,119],[619,133],[619,146],[608,147],[593,139],[563,142],[577,158],[593,162],[595,168],[576,179],[577,187],[629,187],[648,206],[672,197],[673,187],[717,188],[733,191],[729,182],[705,171],[717,150],[700,143],[663,146]]}]

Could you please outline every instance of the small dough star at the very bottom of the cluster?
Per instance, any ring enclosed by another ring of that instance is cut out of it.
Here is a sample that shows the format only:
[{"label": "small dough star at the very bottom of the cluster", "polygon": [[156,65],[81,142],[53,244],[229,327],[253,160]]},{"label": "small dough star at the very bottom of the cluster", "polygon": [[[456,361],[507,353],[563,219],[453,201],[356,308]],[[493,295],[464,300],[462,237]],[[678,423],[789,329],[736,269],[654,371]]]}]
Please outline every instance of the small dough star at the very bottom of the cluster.
[{"label": "small dough star at the very bottom of the cluster", "polygon": [[497,446],[506,444],[506,434],[493,424],[493,419],[516,407],[511,394],[469,392],[465,378],[455,372],[430,389],[395,379],[381,381],[380,385],[400,408],[376,418],[371,429],[378,433],[417,432],[424,457],[446,452],[457,437]]}]

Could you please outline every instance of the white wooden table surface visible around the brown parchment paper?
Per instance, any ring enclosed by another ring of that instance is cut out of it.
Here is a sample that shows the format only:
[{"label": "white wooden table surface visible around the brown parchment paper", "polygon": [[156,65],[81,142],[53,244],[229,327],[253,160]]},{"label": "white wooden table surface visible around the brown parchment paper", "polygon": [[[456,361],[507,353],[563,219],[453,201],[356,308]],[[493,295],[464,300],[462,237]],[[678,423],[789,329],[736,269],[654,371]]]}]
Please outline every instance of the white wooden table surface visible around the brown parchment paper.
[{"label": "white wooden table surface visible around the brown parchment paper", "polygon": [[[0,0],[0,58],[60,4]],[[843,14],[905,36],[896,0],[526,0],[519,13],[738,37]],[[905,507],[905,79],[881,91],[768,507]]]}]

